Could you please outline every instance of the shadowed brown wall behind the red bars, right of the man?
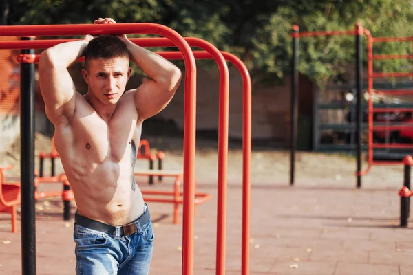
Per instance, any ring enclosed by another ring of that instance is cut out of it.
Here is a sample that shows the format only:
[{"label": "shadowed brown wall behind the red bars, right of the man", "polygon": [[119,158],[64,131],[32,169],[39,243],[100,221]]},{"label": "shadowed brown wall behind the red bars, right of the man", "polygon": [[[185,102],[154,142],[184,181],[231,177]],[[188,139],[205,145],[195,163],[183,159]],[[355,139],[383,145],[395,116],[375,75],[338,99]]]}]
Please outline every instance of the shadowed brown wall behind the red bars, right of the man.
[{"label": "shadowed brown wall behind the red bars, right of the man", "polygon": [[[229,135],[242,137],[242,78],[237,69],[231,67],[229,91]],[[197,80],[197,129],[208,130],[218,127],[218,72],[198,69]],[[299,78],[300,113],[312,115],[313,83]],[[184,110],[184,87],[180,85],[169,105],[158,114],[158,118],[174,120],[182,129]],[[284,85],[253,89],[252,94],[252,137],[253,139],[289,140],[290,138],[290,76]]]}]

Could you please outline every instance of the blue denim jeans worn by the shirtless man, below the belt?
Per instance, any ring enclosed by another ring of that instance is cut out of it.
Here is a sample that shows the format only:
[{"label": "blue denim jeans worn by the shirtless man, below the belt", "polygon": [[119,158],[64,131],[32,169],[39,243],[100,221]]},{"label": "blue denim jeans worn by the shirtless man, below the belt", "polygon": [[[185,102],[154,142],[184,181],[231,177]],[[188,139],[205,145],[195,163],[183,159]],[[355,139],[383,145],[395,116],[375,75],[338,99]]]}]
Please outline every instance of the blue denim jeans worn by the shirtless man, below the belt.
[{"label": "blue denim jeans worn by the shirtless man, below the belt", "polygon": [[75,223],[73,237],[76,274],[149,273],[154,239],[151,219],[129,236],[107,234]]}]

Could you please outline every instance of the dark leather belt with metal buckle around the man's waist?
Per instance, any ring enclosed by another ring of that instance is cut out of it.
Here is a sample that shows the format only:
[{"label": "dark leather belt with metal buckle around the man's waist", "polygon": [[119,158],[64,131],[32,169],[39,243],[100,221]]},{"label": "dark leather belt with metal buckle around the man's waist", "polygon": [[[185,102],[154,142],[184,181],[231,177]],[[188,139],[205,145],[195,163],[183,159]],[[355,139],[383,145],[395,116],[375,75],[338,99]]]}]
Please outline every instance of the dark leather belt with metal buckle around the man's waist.
[{"label": "dark leather belt with metal buckle around the man's waist", "polygon": [[101,223],[100,221],[94,221],[87,217],[83,217],[77,212],[74,214],[74,222],[76,225],[81,225],[84,228],[89,228],[106,234],[112,234],[115,236],[130,236],[138,232],[142,234],[142,228],[147,221],[151,219],[151,214],[149,214],[149,209],[147,208],[145,213],[143,213],[136,221],[129,223],[127,225],[114,226],[106,223]]}]

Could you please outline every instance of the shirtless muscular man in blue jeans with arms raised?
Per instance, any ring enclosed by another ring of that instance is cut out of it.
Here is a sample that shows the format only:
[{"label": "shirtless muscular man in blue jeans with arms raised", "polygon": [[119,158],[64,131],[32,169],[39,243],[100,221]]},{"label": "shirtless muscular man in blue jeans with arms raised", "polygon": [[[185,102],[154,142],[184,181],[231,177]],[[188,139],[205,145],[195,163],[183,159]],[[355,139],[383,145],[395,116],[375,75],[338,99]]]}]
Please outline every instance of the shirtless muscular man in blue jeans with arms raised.
[{"label": "shirtless muscular man in blue jeans with arms raised", "polygon": [[[96,24],[116,23],[99,18]],[[67,67],[85,56],[87,94],[76,92]],[[129,58],[149,80],[125,92]],[[126,36],[93,36],[42,52],[40,87],[54,144],[77,205],[76,274],[148,274],[151,218],[134,181],[142,122],[169,103],[178,67]],[[136,131],[135,131],[136,130]]]}]

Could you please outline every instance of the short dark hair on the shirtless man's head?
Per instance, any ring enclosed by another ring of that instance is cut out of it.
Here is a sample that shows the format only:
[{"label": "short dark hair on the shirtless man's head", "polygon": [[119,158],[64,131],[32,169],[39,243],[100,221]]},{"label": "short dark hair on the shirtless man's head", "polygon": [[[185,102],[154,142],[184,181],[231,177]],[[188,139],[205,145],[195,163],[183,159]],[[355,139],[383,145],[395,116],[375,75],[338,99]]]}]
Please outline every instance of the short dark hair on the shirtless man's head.
[{"label": "short dark hair on the shirtless man's head", "polygon": [[90,59],[129,58],[125,42],[113,35],[100,35],[92,39],[85,50],[85,67]]}]

